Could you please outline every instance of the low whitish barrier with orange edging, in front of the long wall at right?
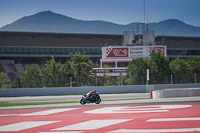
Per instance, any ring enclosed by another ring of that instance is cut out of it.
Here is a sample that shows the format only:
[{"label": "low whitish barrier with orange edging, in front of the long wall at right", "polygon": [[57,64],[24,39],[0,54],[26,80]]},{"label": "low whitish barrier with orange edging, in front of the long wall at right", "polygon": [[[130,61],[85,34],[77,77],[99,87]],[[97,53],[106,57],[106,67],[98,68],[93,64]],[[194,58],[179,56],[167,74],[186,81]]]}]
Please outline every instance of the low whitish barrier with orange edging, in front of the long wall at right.
[{"label": "low whitish barrier with orange edging, in front of the long wall at right", "polygon": [[192,96],[200,96],[200,88],[152,90],[153,99]]}]

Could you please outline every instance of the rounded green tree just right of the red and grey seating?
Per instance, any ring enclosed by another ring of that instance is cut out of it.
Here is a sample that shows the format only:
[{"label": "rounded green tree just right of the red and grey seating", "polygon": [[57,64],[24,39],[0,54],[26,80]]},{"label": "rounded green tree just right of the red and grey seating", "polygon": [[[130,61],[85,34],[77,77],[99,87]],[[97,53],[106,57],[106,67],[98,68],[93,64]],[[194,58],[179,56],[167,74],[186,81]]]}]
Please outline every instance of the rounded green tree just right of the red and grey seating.
[{"label": "rounded green tree just right of the red and grey seating", "polygon": [[20,88],[42,87],[40,70],[35,66],[26,65],[25,71],[17,78],[16,84]]}]

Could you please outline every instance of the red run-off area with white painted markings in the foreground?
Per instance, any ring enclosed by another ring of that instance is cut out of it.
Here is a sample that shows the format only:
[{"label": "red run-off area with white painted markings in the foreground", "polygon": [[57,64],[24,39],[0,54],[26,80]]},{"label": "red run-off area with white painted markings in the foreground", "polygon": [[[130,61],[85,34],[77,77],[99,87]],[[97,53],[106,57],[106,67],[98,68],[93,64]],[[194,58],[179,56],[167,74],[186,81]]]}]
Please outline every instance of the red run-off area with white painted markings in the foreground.
[{"label": "red run-off area with white painted markings in the foreground", "polygon": [[0,133],[200,132],[200,102],[0,110]]}]

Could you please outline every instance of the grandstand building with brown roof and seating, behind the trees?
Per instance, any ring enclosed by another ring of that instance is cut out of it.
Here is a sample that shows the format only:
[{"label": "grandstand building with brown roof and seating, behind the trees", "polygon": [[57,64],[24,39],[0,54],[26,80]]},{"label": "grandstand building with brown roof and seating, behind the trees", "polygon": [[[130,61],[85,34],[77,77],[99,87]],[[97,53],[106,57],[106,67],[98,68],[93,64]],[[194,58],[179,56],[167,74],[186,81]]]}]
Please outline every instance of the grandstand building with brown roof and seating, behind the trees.
[{"label": "grandstand building with brown roof and seating, behind the trees", "polygon": [[[200,37],[157,36],[155,42],[164,42],[170,59],[200,55]],[[0,72],[6,72],[10,82],[26,64],[39,68],[51,56],[64,63],[74,53],[86,54],[91,62],[100,64],[102,47],[122,44],[123,35],[0,31]]]}]

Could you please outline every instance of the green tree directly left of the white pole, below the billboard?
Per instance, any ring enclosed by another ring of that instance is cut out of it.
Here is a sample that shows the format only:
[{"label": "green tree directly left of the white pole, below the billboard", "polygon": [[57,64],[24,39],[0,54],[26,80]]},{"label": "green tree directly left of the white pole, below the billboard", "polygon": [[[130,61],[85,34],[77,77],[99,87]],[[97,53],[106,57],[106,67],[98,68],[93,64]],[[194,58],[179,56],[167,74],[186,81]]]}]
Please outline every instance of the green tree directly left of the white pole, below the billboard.
[{"label": "green tree directly left of the white pole, below the billboard", "polygon": [[126,70],[127,76],[125,82],[127,84],[143,84],[146,70],[148,68],[148,60],[144,58],[133,59]]}]

